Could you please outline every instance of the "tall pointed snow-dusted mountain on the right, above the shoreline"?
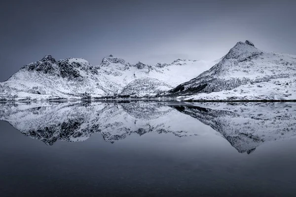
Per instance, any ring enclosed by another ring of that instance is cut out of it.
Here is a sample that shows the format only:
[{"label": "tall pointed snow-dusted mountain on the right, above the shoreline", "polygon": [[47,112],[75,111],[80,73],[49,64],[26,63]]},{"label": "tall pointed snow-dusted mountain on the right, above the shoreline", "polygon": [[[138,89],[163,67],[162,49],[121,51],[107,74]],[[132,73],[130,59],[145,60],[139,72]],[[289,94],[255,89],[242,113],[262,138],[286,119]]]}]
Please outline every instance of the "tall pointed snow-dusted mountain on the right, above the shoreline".
[{"label": "tall pointed snow-dusted mountain on the right, above the shoreline", "polygon": [[186,100],[296,99],[296,56],[259,50],[238,42],[208,71],[173,90]]}]

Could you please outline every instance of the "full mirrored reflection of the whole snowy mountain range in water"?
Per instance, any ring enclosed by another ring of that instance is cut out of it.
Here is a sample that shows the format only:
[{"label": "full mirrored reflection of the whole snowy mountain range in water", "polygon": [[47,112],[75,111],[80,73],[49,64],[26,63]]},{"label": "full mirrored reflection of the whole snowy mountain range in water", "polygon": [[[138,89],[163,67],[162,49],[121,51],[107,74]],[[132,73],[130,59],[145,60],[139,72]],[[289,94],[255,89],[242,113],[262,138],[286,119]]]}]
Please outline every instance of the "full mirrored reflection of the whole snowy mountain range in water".
[{"label": "full mirrored reflection of the whole snowy mountain range in water", "polygon": [[265,142],[296,136],[296,103],[3,102],[0,120],[47,145],[84,141],[94,132],[111,143],[131,133],[203,135],[211,132],[200,129],[204,124],[250,154]]}]

